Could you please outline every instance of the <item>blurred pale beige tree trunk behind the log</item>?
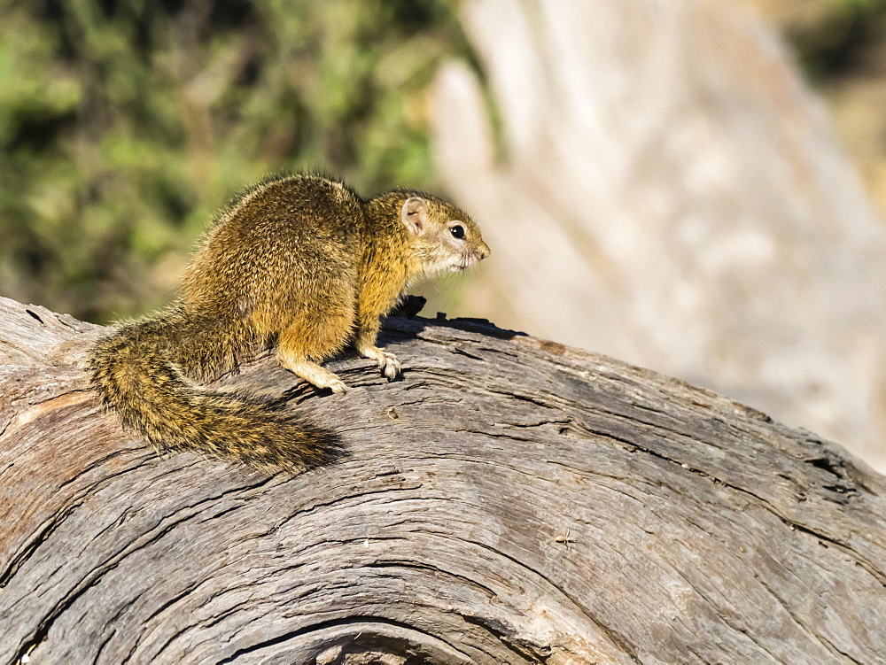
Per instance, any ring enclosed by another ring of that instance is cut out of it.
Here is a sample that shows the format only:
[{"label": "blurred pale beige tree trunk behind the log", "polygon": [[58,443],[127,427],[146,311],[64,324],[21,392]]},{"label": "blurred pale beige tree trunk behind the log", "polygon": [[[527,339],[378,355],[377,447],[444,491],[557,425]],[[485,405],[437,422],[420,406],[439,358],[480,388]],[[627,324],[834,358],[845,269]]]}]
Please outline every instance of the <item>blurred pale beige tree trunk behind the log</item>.
[{"label": "blurred pale beige tree trunk behind the log", "polygon": [[[886,239],[773,30],[726,0],[469,0],[436,154],[472,311],[700,383],[886,470]],[[496,159],[500,151],[500,159]]]}]

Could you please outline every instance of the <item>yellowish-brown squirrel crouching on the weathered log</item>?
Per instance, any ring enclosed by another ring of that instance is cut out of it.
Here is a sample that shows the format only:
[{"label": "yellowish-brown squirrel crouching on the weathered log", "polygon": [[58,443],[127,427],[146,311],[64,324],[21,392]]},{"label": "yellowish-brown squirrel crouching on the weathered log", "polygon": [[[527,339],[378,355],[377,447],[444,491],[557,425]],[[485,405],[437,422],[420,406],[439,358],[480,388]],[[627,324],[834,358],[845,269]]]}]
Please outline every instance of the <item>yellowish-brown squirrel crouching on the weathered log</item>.
[{"label": "yellowish-brown squirrel crouching on the weathered log", "polygon": [[279,400],[196,382],[276,344],[283,367],[343,392],[317,363],[350,341],[394,379],[400,363],[376,346],[379,318],[416,278],[488,255],[477,225],[437,197],[396,189],[367,201],[314,174],[271,179],[221,213],[173,305],[97,342],[92,383],[158,449],[299,472],[329,459],[338,437],[285,414]]}]

